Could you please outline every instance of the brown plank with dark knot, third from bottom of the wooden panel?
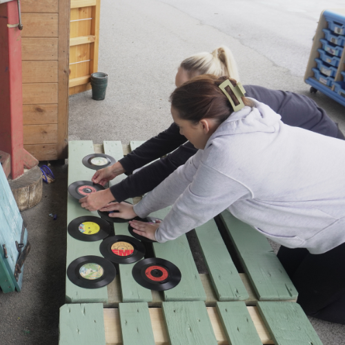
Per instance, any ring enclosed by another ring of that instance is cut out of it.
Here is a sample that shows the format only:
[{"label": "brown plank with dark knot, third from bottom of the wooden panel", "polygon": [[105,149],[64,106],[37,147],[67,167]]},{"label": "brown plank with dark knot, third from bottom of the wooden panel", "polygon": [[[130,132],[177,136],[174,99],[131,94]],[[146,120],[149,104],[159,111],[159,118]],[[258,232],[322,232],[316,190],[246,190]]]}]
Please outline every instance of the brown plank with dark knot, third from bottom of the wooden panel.
[{"label": "brown plank with dark knot, third from bottom of the wooden panel", "polygon": [[23,125],[57,124],[57,104],[26,104]]}]

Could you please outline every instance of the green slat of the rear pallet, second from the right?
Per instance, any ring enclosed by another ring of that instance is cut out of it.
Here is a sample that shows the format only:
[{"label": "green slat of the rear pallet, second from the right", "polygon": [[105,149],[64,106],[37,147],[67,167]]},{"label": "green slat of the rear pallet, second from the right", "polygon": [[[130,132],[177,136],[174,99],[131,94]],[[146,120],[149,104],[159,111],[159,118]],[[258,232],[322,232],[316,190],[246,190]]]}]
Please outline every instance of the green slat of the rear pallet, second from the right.
[{"label": "green slat of the rear pallet, second from the right", "polygon": [[244,301],[249,298],[233,259],[213,219],[195,229],[210,279],[219,301]]}]

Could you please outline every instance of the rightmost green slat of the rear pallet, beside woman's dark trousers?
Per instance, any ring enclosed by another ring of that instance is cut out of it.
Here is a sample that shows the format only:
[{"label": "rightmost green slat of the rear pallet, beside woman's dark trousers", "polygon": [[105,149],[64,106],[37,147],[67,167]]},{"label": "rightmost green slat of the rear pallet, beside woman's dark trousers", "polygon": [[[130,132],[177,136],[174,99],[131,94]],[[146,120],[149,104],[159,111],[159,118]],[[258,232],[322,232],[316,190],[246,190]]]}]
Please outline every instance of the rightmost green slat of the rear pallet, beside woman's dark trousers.
[{"label": "rightmost green slat of the rear pallet, beside woman's dark trousers", "polygon": [[297,299],[297,290],[266,237],[228,210],[221,219],[259,300]]}]

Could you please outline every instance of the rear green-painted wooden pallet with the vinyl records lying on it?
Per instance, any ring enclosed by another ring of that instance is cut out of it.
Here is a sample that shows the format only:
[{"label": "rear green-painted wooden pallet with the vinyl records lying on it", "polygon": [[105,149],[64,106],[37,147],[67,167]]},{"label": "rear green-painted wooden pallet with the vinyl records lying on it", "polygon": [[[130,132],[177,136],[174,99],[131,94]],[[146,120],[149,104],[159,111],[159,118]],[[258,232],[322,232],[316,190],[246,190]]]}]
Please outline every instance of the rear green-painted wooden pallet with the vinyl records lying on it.
[{"label": "rear green-painted wooden pallet with the vinyl records lying on it", "polygon": [[[142,141],[131,141],[130,146],[122,146],[120,141],[104,141],[103,145],[94,146],[92,141],[70,141],[68,159],[68,185],[79,180],[90,180],[93,171],[83,166],[81,159],[92,152],[104,152],[119,160],[124,154],[139,146]],[[112,184],[117,184],[124,176],[118,176]],[[152,216],[164,218],[169,208],[159,210]],[[80,207],[79,202],[68,195],[68,224],[82,215],[90,215]],[[92,215],[98,217],[97,212]],[[150,306],[160,306],[163,301],[203,301],[208,306],[215,306],[217,301],[245,301],[255,305],[258,300],[297,299],[297,291],[286,275],[284,268],[274,255],[267,239],[241,221],[235,220],[230,213],[222,215],[224,226],[235,240],[237,253],[242,260],[246,275],[239,275],[233,264],[226,245],[219,234],[215,221],[210,220],[197,228],[197,239],[208,267],[209,275],[199,275],[186,235],[165,244],[153,244],[156,257],[168,259],[177,265],[182,274],[181,283],[164,293],[156,293],[139,286],[132,278],[133,264],[120,265],[115,282],[90,290],[72,284],[66,277],[66,302],[97,303],[105,306],[117,306],[120,302],[148,302]],[[130,235],[128,224],[114,224],[117,235]],[[241,236],[245,233],[244,236]],[[237,243],[238,242],[238,243]],[[67,234],[66,265],[83,255],[98,255],[97,242],[81,242]],[[248,255],[246,247],[253,249]],[[217,248],[214,250],[213,248]],[[179,255],[176,255],[179,253]],[[249,282],[250,283],[249,283]]]}]

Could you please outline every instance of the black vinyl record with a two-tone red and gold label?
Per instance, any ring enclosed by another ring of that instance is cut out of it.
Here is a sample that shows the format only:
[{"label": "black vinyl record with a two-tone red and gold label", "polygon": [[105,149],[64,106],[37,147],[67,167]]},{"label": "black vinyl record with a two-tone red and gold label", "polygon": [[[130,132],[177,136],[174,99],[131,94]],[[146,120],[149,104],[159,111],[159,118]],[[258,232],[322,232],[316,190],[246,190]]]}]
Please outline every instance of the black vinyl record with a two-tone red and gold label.
[{"label": "black vinyl record with a two-tone red and gold label", "polygon": [[103,239],[99,251],[103,257],[116,264],[132,264],[145,255],[144,244],[133,237],[123,235]]}]

